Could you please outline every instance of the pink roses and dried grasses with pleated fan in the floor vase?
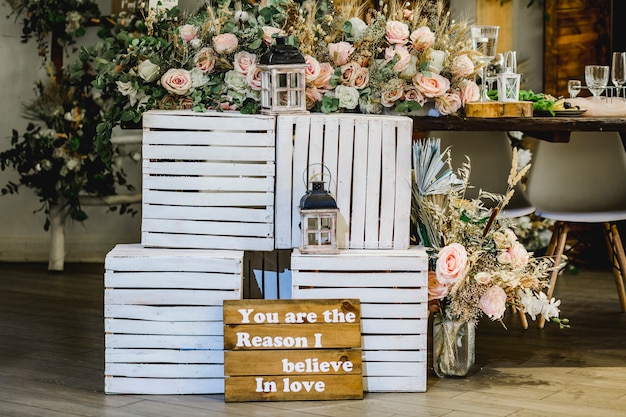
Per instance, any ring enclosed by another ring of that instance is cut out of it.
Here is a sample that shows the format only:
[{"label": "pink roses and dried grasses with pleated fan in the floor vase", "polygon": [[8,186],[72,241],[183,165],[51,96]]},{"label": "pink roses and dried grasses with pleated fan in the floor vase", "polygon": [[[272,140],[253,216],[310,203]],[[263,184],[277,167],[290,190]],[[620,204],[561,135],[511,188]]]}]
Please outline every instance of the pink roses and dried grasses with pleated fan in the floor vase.
[{"label": "pink roses and dried grasses with pleated fan in the floor vase", "polygon": [[[567,320],[559,319],[560,301],[548,300],[543,292],[552,262],[527,252],[497,217],[530,166],[517,168],[514,149],[508,191],[504,195],[481,192],[468,200],[464,192],[469,186],[469,162],[452,172],[449,149],[441,151],[439,146],[438,139],[414,145],[413,217],[422,242],[432,252],[428,294],[434,311],[444,320],[476,322],[486,315],[501,321],[507,307],[512,307],[533,320],[541,314],[566,326]],[[498,205],[486,209],[481,198],[495,199]]]}]

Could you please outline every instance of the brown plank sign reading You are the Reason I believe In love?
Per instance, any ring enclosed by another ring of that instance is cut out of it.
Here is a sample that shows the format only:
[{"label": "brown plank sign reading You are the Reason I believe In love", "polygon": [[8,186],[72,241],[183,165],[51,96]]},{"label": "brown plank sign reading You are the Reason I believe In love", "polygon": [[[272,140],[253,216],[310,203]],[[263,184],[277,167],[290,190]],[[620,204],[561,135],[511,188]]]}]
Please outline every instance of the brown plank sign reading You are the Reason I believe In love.
[{"label": "brown plank sign reading You are the Reason I believe In love", "polygon": [[224,300],[226,402],[362,399],[354,299]]}]

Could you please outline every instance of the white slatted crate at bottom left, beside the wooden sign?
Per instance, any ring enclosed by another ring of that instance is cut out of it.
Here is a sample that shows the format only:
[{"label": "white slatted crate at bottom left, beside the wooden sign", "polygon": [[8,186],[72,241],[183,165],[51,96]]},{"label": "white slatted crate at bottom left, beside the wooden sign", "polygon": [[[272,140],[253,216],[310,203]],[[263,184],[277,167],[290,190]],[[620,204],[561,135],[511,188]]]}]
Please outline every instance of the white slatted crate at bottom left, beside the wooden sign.
[{"label": "white slatted crate at bottom left, beside the wooden sign", "polygon": [[104,276],[107,394],[224,392],[224,300],[242,251],[117,245]]}]

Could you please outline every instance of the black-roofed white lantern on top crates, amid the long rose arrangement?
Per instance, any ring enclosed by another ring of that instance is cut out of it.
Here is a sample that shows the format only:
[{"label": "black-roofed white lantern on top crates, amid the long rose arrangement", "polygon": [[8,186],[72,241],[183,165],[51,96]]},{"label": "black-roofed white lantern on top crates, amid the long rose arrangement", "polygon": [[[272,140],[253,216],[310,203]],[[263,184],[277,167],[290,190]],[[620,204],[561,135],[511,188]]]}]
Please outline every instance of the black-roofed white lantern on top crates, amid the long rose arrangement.
[{"label": "black-roofed white lantern on top crates, amid the long rose arrangement", "polygon": [[284,37],[276,38],[276,45],[263,55],[261,70],[261,113],[308,113],[306,110],[307,64],[302,54]]}]

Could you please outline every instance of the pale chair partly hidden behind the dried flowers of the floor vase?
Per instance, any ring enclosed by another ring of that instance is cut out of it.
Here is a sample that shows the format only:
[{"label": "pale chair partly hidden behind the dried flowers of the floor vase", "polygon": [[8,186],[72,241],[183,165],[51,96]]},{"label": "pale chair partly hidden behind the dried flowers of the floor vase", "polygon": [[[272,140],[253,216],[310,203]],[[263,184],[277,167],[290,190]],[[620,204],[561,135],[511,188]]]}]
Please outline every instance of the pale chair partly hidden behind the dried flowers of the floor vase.
[{"label": "pale chair partly hidden behind the dried flowers of the floor vase", "polygon": [[[504,194],[507,190],[507,178],[511,171],[513,151],[506,132],[460,132],[431,131],[427,137],[441,138],[441,149],[451,146],[452,166],[457,170],[470,158],[470,184],[474,187],[466,194],[475,198],[478,190]],[[495,206],[491,200],[484,201],[485,207]],[[528,215],[534,211],[521,184],[515,187],[511,201],[500,212],[501,218],[513,218]]]}]

